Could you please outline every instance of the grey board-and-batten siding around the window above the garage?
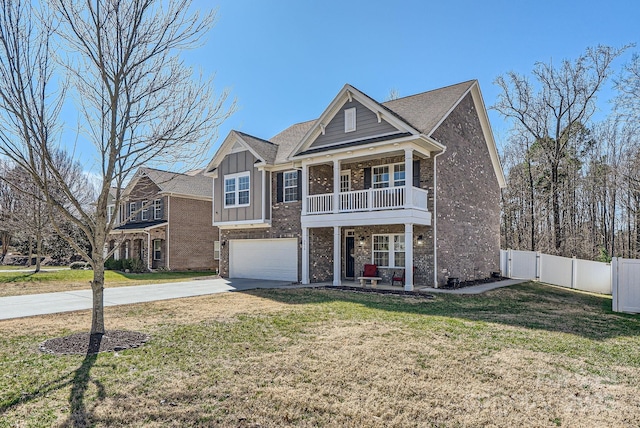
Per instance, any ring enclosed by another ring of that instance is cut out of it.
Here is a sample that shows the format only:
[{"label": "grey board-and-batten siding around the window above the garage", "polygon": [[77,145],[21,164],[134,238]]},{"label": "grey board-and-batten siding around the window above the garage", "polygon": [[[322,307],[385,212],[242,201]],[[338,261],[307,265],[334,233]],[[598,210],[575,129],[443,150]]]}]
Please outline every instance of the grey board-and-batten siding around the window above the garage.
[{"label": "grey board-and-batten siding around the window above the garage", "polygon": [[[230,153],[218,167],[218,178],[215,180],[213,194],[214,221],[233,222],[262,219],[262,172],[258,171],[254,164],[257,159],[249,151]],[[229,174],[249,171],[250,194],[249,206],[239,208],[224,207],[224,177]]]}]

